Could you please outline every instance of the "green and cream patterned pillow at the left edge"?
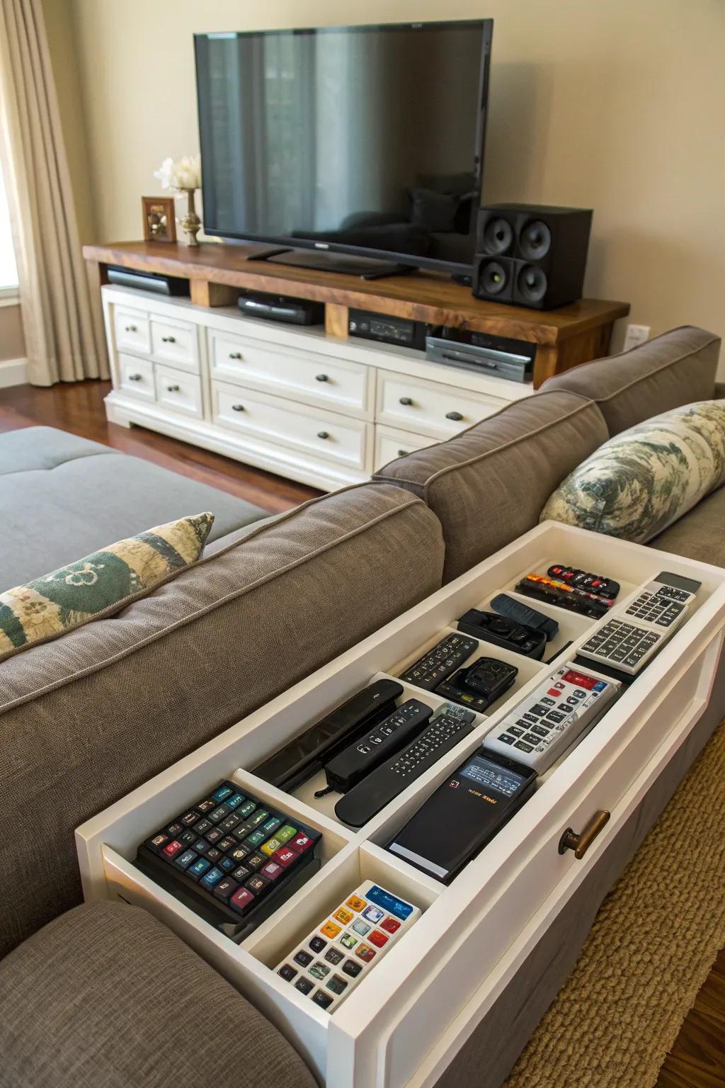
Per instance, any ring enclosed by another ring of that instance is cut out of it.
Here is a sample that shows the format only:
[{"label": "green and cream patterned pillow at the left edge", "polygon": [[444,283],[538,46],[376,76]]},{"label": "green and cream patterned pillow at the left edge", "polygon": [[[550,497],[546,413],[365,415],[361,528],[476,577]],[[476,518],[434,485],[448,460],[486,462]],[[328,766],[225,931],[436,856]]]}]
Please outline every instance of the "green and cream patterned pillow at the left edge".
[{"label": "green and cream patterned pillow at the left edge", "polygon": [[0,662],[117,610],[201,555],[213,514],[157,526],[0,593]]}]

